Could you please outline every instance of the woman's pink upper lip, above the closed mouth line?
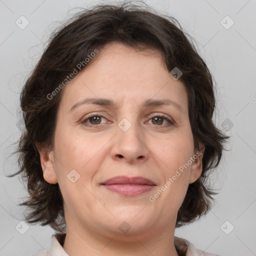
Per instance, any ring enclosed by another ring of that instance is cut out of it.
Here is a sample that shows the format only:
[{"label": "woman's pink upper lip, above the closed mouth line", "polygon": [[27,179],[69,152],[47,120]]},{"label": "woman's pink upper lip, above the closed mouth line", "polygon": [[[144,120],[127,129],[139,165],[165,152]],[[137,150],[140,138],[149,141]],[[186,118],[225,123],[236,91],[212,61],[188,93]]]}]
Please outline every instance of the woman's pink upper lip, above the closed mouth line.
[{"label": "woman's pink upper lip, above the closed mouth line", "polygon": [[102,185],[113,185],[113,184],[140,184],[140,185],[155,185],[155,183],[144,177],[136,176],[136,177],[128,177],[128,176],[114,176],[111,177],[104,182]]}]

